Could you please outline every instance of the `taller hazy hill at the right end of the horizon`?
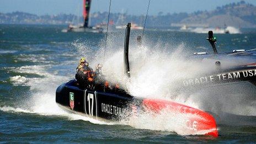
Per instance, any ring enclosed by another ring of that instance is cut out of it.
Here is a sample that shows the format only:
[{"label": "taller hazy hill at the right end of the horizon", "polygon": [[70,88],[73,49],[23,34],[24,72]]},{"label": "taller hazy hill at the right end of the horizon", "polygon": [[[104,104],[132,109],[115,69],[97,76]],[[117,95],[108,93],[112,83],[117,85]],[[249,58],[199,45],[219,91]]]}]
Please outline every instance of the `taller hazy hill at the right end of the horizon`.
[{"label": "taller hazy hill at the right end of the horizon", "polygon": [[195,12],[179,23],[184,24],[209,24],[209,26],[230,25],[242,28],[256,26],[256,7],[244,1],[227,4],[207,12]]}]

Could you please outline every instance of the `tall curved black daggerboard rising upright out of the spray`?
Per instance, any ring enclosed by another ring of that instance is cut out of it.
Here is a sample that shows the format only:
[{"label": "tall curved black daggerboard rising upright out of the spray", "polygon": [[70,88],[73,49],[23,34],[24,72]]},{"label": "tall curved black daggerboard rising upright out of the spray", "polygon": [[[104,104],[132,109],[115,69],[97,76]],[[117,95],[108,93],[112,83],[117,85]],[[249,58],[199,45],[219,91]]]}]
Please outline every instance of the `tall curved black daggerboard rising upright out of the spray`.
[{"label": "tall curved black daggerboard rising upright out of the spray", "polygon": [[124,70],[127,77],[130,76],[130,65],[129,65],[129,41],[130,41],[131,23],[127,23],[125,30],[125,47],[124,47]]}]

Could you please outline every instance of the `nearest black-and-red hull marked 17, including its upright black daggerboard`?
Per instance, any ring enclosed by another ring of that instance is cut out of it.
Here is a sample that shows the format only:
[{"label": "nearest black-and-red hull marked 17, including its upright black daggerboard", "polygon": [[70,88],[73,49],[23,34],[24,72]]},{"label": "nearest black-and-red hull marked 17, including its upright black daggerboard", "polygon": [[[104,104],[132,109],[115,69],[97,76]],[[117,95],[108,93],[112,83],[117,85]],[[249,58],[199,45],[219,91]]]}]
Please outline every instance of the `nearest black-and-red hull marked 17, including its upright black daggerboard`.
[{"label": "nearest black-and-red hull marked 17, including its upright black daggerboard", "polygon": [[[124,45],[124,70],[130,76],[129,39],[131,24],[127,24]],[[143,113],[160,115],[163,111],[183,115],[179,121],[186,135],[218,136],[216,121],[205,111],[162,99],[139,98],[122,89],[81,88],[76,79],[63,83],[56,90],[56,103],[63,109],[97,120],[131,118]],[[156,118],[156,117],[155,117]],[[177,121],[178,123],[178,121]]]}]

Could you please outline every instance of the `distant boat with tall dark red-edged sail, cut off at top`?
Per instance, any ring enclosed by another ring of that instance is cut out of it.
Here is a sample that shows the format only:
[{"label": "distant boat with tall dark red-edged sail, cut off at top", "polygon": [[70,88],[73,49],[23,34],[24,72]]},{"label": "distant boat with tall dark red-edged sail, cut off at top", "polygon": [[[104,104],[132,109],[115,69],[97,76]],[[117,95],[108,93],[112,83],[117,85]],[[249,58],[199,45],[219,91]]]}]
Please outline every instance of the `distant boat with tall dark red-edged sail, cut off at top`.
[{"label": "distant boat with tall dark red-edged sail, cut off at top", "polygon": [[88,26],[89,23],[89,12],[90,12],[90,4],[92,0],[83,0],[83,24],[68,25],[67,29],[63,29],[62,32],[91,32],[91,33],[102,33],[103,29],[97,26]]}]

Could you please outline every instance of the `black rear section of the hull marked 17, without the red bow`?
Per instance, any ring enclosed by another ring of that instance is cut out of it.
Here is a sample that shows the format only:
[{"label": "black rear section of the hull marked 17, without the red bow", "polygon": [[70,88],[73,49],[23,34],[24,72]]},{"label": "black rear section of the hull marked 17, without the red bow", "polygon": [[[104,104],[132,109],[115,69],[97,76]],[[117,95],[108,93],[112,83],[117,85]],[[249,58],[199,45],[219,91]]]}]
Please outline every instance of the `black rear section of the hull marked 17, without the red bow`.
[{"label": "black rear section of the hull marked 17, without the red bow", "polygon": [[[129,115],[132,105],[140,104],[141,99],[135,99],[128,94],[97,92],[96,90],[80,89],[72,80],[62,84],[56,90],[56,103],[69,111],[76,111],[95,119],[120,120]],[[70,95],[74,96],[74,106]]]}]

